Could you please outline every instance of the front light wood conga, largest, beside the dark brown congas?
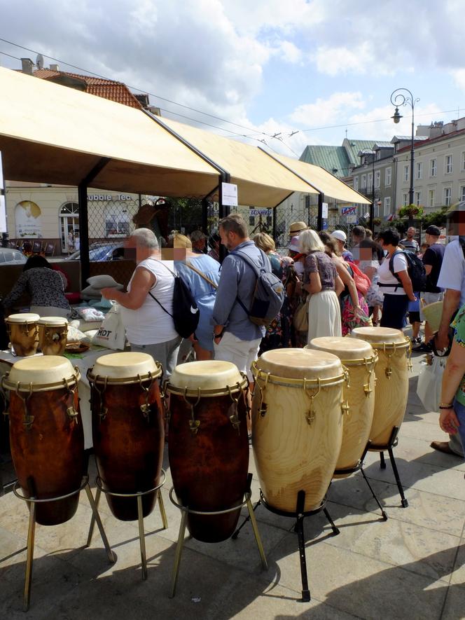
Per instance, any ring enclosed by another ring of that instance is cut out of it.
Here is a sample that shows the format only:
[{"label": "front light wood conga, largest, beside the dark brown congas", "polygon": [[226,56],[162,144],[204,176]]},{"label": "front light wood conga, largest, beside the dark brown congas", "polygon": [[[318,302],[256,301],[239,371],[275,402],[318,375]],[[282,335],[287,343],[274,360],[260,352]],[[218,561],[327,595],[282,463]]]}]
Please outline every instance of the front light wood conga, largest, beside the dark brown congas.
[{"label": "front light wood conga, largest, beside the dark brown congas", "polygon": [[342,441],[340,359],[303,349],[267,351],[252,365],[252,445],[265,502],[296,513],[317,509],[333,477]]}]

